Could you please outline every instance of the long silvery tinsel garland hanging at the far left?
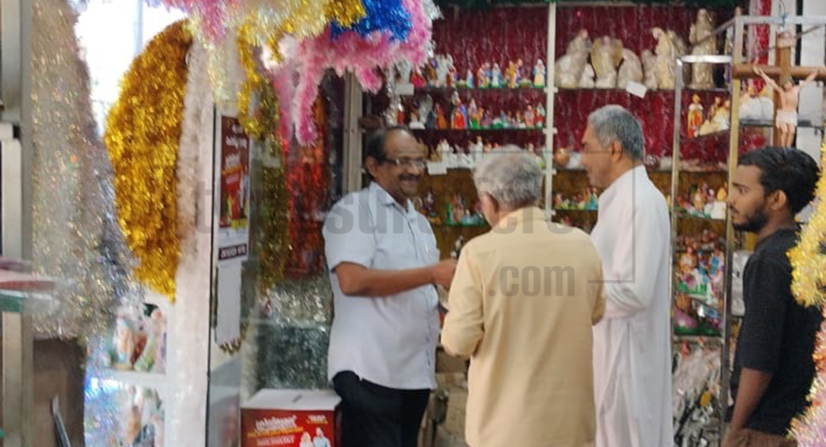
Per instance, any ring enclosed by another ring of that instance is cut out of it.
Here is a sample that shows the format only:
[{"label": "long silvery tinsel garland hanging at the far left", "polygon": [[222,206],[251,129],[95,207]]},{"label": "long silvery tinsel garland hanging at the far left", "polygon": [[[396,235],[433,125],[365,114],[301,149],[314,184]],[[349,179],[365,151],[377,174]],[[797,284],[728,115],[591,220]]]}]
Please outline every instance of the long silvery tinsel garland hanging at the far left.
[{"label": "long silvery tinsel garland hanging at the far left", "polygon": [[38,336],[85,344],[142,291],[131,281],[133,260],[117,224],[112,166],[74,34],[77,16],[64,0],[35,0],[31,12],[32,127],[23,131],[32,139],[32,261],[36,273],[59,280],[54,299],[31,310]]}]

